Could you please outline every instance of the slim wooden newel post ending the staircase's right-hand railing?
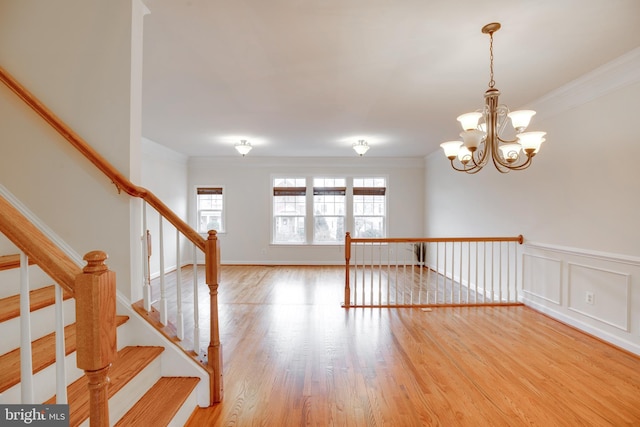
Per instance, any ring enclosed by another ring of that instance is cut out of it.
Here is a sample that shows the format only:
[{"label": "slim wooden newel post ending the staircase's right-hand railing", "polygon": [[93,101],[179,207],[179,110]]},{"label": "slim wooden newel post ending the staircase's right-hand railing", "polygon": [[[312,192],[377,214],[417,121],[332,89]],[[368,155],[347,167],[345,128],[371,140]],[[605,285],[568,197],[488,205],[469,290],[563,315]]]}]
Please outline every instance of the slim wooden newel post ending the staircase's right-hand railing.
[{"label": "slim wooden newel post ending the staircase's right-hand railing", "polygon": [[207,350],[211,377],[211,404],[222,401],[222,345],[218,322],[218,284],[220,283],[220,242],[215,230],[209,230],[205,246],[206,281],[211,302],[210,340]]}]

